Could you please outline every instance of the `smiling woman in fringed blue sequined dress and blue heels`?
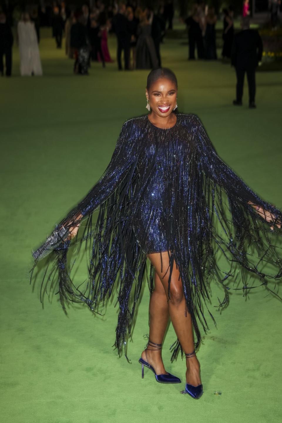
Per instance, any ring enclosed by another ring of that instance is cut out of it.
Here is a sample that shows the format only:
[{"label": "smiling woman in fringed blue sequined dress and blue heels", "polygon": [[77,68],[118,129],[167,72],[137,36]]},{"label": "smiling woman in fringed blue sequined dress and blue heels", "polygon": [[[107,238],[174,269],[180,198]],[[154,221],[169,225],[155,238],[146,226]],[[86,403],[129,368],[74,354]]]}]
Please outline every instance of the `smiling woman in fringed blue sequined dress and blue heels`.
[{"label": "smiling woman in fringed blue sequined dress and blue heels", "polygon": [[[282,212],[263,201],[217,156],[196,115],[173,113],[177,90],[172,71],[150,72],[146,107],[151,113],[123,124],[101,179],[33,256],[36,266],[51,252],[47,261],[54,260],[54,265],[47,281],[52,278],[53,282],[57,270],[63,306],[71,299],[85,302],[95,311],[119,278],[115,346],[120,353],[127,350],[148,258],[150,331],[148,347],[139,360],[142,376],[145,366],[158,382],[180,382],[166,372],[162,361],[170,317],[178,337],[172,359],[179,349],[185,353],[184,392],[199,398],[203,386],[194,348],[200,343],[197,319],[204,330],[207,325],[203,305],[208,299],[209,278],[223,287],[221,307],[227,305],[233,289],[226,280],[233,279],[235,263],[242,272],[259,277],[271,291],[267,279],[282,275],[282,258],[271,240],[272,232],[281,235],[277,228],[281,228]],[[98,209],[94,219],[93,212]],[[83,288],[74,285],[67,263],[71,239],[82,220],[86,225],[78,242],[85,244],[90,254],[88,285]],[[227,259],[229,270],[219,269],[217,249]],[[256,255],[251,254],[253,249]],[[268,274],[263,271],[266,261],[272,266]],[[42,288],[46,290],[44,281]],[[251,285],[245,282],[241,289],[246,293],[248,288]]]}]

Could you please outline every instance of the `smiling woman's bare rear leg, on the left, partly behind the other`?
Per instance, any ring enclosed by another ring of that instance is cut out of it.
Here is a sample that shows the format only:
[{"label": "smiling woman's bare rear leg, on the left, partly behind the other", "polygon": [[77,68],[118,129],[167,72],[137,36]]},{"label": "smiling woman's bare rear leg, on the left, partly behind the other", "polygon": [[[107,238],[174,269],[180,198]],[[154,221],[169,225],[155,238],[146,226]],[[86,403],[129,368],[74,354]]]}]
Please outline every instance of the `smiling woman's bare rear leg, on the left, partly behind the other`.
[{"label": "smiling woman's bare rear leg, on the left, partly behind the other", "polygon": [[[157,272],[155,272],[154,277],[154,290],[150,298],[149,313],[149,339],[154,343],[161,344],[170,315],[168,312],[167,295]],[[148,361],[153,366],[156,374],[166,374],[167,372],[162,361],[162,350],[153,346],[149,346],[148,348],[142,352],[142,359]]]}]

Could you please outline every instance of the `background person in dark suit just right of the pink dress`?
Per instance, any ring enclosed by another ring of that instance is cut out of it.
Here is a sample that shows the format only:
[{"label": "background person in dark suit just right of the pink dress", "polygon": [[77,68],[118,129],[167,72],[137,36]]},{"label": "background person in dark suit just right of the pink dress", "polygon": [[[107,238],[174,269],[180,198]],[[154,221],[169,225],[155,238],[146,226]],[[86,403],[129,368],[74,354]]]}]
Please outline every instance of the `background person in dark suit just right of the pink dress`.
[{"label": "background person in dark suit just right of the pink dress", "polygon": [[118,13],[112,18],[112,28],[115,31],[115,35],[117,36],[117,40],[118,40],[117,59],[118,59],[119,70],[123,69],[121,65],[122,51],[124,53],[124,67],[126,70],[129,70],[129,52],[130,52],[131,35],[127,27],[127,19],[126,19],[125,13],[126,13],[126,5],[124,3],[121,3],[118,9]]}]

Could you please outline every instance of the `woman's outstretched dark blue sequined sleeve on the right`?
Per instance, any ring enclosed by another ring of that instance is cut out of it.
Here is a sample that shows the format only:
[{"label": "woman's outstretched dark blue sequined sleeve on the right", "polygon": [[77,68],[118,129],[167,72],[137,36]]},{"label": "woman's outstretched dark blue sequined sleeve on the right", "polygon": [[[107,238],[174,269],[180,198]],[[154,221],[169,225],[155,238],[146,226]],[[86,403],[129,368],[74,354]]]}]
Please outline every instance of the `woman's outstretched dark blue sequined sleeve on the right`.
[{"label": "woman's outstretched dark blue sequined sleeve on the right", "polygon": [[[200,119],[194,115],[195,147],[199,162],[205,176],[224,188],[229,199],[236,198],[246,206],[250,213],[255,213],[264,222],[266,220],[258,214],[251,203],[260,206],[264,211],[270,211],[276,219],[281,221],[282,213],[275,206],[263,201],[216,153]],[[235,196],[235,197],[234,197]],[[271,225],[271,222],[268,222]]]}]

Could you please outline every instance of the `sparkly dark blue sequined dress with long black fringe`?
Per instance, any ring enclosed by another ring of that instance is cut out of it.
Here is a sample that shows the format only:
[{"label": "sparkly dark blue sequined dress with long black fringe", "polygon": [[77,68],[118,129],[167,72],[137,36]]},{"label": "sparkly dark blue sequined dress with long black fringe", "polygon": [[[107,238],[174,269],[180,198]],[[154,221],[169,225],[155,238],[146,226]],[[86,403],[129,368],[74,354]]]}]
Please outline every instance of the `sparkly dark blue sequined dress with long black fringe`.
[{"label": "sparkly dark blue sequined dress with long black fringe", "polygon": [[[267,222],[249,202],[270,211],[274,222]],[[66,241],[79,219],[84,227]],[[115,346],[121,353],[131,334],[146,256],[170,251],[170,264],[175,260],[181,274],[197,347],[199,327],[208,329],[204,310],[214,319],[207,304],[211,282],[222,286],[219,308],[226,307],[232,289],[246,295],[263,286],[277,295],[268,282],[282,276],[282,231],[275,224],[281,221],[281,210],[263,201],[219,158],[196,115],[178,114],[170,129],[157,128],[145,115],[123,124],[101,179],[33,252],[33,270],[39,260],[46,261],[42,292],[57,281],[64,309],[70,300],[95,312],[115,287]],[[75,281],[76,261],[69,255],[72,247],[81,251],[82,246],[88,272]],[[176,341],[172,359],[179,348]]]}]

